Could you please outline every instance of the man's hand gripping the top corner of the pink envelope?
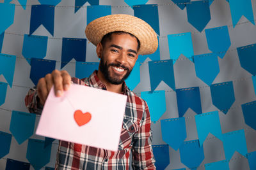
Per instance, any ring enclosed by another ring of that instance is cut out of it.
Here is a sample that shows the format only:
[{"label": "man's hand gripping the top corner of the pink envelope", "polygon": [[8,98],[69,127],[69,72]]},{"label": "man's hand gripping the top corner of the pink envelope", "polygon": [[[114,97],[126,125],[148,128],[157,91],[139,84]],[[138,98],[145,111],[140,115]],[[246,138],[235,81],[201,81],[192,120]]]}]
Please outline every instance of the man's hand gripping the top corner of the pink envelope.
[{"label": "man's hand gripping the top corner of the pink envelope", "polygon": [[54,93],[56,96],[61,96],[63,90],[68,90],[71,84],[71,76],[67,71],[54,70],[51,74],[46,74],[44,78],[40,78],[37,83],[36,90],[40,103],[44,104],[47,96],[54,86]]}]

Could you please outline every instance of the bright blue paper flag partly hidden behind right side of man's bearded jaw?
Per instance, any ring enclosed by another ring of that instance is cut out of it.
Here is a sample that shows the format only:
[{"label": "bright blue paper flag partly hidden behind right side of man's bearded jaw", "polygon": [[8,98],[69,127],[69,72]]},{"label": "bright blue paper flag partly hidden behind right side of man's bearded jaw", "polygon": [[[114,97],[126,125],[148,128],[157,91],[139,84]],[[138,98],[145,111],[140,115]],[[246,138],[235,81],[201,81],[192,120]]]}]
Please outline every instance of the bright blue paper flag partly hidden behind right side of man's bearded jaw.
[{"label": "bright blue paper flag partly hidden behind right side of man's bearded jaw", "polygon": [[140,83],[140,62],[135,63],[131,74],[125,80],[125,83],[131,90],[133,90]]}]

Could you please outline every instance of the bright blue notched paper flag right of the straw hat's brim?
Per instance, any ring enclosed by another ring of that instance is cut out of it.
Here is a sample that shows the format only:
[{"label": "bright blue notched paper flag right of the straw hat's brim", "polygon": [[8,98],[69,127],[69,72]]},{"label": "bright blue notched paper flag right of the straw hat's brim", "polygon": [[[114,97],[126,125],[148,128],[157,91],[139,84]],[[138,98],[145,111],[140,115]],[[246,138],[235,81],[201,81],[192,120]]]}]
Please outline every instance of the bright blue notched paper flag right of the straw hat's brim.
[{"label": "bright blue notched paper flag right of the straw hat's brim", "polygon": [[173,64],[179,59],[180,55],[185,55],[188,59],[192,60],[194,55],[193,43],[191,38],[191,32],[182,34],[168,35],[168,45],[170,58],[173,59]]}]

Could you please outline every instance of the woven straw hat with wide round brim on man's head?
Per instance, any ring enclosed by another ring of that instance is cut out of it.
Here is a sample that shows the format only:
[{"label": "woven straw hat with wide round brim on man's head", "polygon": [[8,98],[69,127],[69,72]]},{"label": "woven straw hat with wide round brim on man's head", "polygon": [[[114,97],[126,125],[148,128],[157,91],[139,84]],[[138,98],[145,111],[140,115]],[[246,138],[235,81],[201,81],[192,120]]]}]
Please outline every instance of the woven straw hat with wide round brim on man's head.
[{"label": "woven straw hat with wide round brim on man's head", "polygon": [[140,41],[140,55],[154,53],[157,50],[157,34],[147,22],[132,15],[115,14],[100,17],[87,25],[86,38],[97,46],[102,37],[109,32],[124,31],[136,36]]}]

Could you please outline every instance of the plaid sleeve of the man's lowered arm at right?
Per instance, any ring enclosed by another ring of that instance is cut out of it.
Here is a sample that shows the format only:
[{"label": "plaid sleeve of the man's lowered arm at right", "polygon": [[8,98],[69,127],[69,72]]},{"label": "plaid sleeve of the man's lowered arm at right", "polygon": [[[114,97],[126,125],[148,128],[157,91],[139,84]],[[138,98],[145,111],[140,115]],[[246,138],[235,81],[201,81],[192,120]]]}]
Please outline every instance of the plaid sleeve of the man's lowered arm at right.
[{"label": "plaid sleeve of the man's lowered arm at right", "polygon": [[151,120],[147,103],[145,102],[145,111],[143,120],[138,131],[133,136],[132,145],[132,167],[133,169],[156,169],[154,163],[153,150],[151,146],[152,132],[150,129]]}]

